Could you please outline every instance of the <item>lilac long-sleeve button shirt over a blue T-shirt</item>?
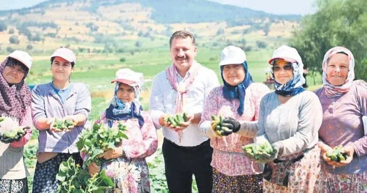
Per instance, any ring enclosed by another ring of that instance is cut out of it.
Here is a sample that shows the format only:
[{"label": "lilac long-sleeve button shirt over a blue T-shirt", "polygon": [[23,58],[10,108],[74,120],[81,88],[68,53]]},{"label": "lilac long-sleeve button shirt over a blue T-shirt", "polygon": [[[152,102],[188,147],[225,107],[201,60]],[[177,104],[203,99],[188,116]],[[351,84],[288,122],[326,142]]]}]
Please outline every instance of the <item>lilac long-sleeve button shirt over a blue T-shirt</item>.
[{"label": "lilac long-sleeve button shirt over a blue T-shirt", "polygon": [[83,126],[75,126],[69,132],[53,132],[49,129],[40,130],[38,137],[38,152],[75,153],[79,135],[85,127],[88,127],[89,113],[91,109],[91,97],[87,86],[83,83],[74,83],[69,97],[65,103],[61,103],[52,83],[41,84],[32,90],[32,117],[36,129],[37,119],[59,117],[67,115],[83,114],[86,118]]}]

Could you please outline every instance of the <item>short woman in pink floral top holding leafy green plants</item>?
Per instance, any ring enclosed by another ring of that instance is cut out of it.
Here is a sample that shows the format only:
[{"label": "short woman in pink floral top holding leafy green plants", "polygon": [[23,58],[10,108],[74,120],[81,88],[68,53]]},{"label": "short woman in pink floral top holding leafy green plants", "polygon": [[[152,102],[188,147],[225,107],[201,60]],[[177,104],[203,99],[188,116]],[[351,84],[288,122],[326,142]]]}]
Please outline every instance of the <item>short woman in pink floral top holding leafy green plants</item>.
[{"label": "short woman in pink floral top holding leafy green plants", "polygon": [[115,182],[115,189],[111,192],[148,193],[149,171],[145,158],[157,150],[158,139],[149,113],[143,111],[139,102],[143,74],[123,68],[116,72],[116,79],[111,83],[115,83],[114,96],[97,122],[102,121],[110,128],[125,125],[128,139],[123,139],[115,149],[100,154],[99,157],[108,162],[102,163],[101,167],[91,163],[88,171],[93,175],[105,170]]}]

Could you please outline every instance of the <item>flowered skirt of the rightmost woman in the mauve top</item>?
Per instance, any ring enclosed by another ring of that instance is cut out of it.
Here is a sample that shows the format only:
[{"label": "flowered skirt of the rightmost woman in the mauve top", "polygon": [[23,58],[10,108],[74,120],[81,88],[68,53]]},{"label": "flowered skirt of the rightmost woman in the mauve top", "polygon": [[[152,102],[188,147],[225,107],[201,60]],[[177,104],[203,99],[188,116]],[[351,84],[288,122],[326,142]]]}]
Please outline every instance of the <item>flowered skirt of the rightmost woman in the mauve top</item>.
[{"label": "flowered skirt of the rightmost woman in the mauve top", "polygon": [[327,193],[367,193],[367,172],[336,174],[324,172]]}]

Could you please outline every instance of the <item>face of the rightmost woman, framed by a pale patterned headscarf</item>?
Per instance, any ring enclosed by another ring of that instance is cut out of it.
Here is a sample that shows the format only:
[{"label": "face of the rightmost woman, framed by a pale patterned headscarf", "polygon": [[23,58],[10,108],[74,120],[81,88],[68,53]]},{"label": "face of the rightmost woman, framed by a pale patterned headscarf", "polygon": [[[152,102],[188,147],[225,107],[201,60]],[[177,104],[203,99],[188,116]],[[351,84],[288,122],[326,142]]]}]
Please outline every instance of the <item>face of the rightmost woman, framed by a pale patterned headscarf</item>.
[{"label": "face of the rightmost woman, framed by a pale patterned headscarf", "polygon": [[332,55],[326,64],[326,76],[331,85],[344,85],[348,78],[349,58],[347,55],[337,53]]}]

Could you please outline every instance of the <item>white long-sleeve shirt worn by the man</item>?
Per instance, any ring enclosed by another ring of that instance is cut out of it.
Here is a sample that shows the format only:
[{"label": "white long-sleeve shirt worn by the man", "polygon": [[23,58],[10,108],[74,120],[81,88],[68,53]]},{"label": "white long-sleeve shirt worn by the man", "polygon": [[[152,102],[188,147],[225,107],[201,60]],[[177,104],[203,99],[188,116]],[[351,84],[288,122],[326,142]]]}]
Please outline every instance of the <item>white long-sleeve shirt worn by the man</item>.
[{"label": "white long-sleeve shirt worn by the man", "polygon": [[[180,85],[185,85],[189,81],[190,72],[187,72],[184,78],[178,73],[176,75]],[[215,72],[202,66],[187,92],[183,112],[190,114],[202,113],[205,98],[217,86],[219,86],[219,81]],[[159,124],[159,118],[163,114],[175,114],[176,96],[177,91],[169,83],[167,74],[165,71],[160,72],[152,82],[152,93],[150,95],[151,116],[156,129],[162,128]],[[181,142],[178,132],[165,127],[163,127],[163,136],[173,143],[185,147],[198,146],[208,140],[200,133],[198,124],[190,124],[182,131]]]}]

